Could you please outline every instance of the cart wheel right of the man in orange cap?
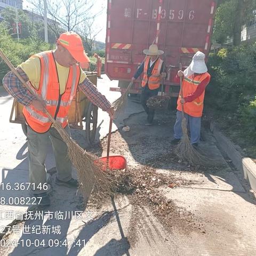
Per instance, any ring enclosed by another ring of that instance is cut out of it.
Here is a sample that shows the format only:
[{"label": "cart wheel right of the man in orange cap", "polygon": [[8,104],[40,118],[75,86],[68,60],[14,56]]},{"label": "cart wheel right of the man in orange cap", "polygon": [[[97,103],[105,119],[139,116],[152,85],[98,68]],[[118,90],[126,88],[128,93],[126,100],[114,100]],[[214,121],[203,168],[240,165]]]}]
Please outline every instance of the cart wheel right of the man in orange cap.
[{"label": "cart wheel right of the man in orange cap", "polygon": [[92,102],[89,103],[87,107],[87,113],[85,117],[85,134],[86,140],[93,144],[95,140],[96,130],[98,121],[98,107],[93,105]]}]

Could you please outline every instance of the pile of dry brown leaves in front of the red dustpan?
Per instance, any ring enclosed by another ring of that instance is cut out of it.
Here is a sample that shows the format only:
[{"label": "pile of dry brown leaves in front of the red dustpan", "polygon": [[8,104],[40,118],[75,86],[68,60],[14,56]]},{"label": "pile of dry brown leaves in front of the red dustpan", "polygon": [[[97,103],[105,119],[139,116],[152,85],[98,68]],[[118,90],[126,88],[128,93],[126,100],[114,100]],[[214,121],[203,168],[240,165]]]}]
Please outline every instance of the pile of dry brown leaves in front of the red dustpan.
[{"label": "pile of dry brown leaves in front of the red dustpan", "polygon": [[[148,207],[165,227],[172,228],[177,222],[191,222],[193,215],[178,208],[159,190],[159,187],[162,186],[172,189],[184,185],[186,181],[177,180],[170,174],[157,173],[156,170],[148,166],[130,170],[115,170],[111,176],[115,181],[114,193],[126,195],[133,206]],[[104,198],[92,196],[90,205],[93,204],[100,208],[102,202],[105,202]]]}]

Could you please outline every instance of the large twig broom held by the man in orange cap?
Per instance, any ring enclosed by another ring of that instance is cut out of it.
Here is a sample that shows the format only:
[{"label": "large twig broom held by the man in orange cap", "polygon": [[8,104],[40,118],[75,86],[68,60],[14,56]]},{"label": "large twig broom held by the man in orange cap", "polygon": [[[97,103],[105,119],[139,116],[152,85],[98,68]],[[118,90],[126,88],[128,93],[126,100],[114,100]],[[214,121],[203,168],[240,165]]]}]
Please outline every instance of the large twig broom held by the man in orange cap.
[{"label": "large twig broom held by the man in orange cap", "polygon": [[[13,67],[12,63],[7,59],[3,51],[0,49],[0,56],[4,60],[7,66],[11,69],[13,74],[18,77],[20,82],[26,89],[38,98],[38,95],[31,89],[31,87],[24,81],[18,71]],[[45,114],[49,117],[53,123],[55,129],[59,132],[63,141],[68,147],[68,157],[77,169],[79,188],[81,189],[84,201],[89,198],[92,189],[97,191],[98,195],[109,194],[111,195],[111,179],[109,178],[107,171],[102,171],[99,163],[99,158],[93,154],[87,153],[81,148],[73,139],[69,137],[67,132],[63,129],[60,123],[58,123],[51,114],[44,108]]]}]

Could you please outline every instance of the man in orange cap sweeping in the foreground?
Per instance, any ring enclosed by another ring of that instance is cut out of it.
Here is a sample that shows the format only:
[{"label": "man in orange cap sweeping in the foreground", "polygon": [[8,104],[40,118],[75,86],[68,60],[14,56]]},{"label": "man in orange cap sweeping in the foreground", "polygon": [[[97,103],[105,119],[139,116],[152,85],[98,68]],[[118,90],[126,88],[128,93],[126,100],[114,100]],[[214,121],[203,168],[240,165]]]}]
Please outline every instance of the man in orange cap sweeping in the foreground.
[{"label": "man in orange cap sweeping in the foreground", "polygon": [[78,187],[77,180],[73,179],[71,175],[72,164],[67,157],[67,145],[52,126],[44,108],[71,136],[68,113],[79,87],[87,99],[107,111],[113,118],[109,101],[99,93],[97,87],[90,82],[77,64],[77,62],[89,61],[84,52],[81,37],[76,33],[67,32],[60,35],[57,48],[54,51],[35,54],[17,68],[18,73],[31,86],[31,90],[34,90],[37,97],[31,94],[12,72],[7,73],[3,78],[6,91],[24,106],[23,115],[28,125],[30,189],[38,204],[42,206],[50,204],[48,195],[50,186],[46,181],[45,170],[49,139],[52,142],[57,169],[55,183],[70,188]]}]

